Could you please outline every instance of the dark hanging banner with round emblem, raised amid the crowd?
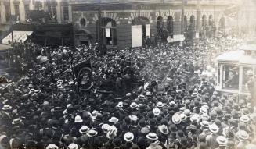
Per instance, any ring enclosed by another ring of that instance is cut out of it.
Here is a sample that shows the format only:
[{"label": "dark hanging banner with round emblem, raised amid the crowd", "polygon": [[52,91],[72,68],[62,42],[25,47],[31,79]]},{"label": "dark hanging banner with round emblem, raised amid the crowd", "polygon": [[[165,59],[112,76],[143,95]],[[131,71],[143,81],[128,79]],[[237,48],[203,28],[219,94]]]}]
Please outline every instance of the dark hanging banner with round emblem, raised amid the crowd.
[{"label": "dark hanging banner with round emblem, raised amid the crowd", "polygon": [[90,59],[79,62],[73,67],[79,90],[90,90],[93,86],[92,65]]}]

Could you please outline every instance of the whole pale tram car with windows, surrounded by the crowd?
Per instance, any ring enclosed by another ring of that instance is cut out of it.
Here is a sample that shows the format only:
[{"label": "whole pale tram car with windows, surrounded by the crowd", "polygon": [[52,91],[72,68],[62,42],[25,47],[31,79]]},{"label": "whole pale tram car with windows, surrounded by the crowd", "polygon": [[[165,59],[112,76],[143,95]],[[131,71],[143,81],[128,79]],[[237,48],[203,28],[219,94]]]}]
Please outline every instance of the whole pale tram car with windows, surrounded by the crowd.
[{"label": "whole pale tram car with windows, surrounded by the crowd", "polygon": [[244,44],[235,51],[218,55],[216,90],[237,99],[254,94],[256,75],[256,44]]}]

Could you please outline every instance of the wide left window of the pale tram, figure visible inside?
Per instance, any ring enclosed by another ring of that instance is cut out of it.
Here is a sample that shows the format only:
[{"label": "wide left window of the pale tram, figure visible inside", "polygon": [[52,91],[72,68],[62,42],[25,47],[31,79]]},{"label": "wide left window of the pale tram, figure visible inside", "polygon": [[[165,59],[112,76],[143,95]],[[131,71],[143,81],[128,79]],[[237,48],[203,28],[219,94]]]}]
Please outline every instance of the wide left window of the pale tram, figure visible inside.
[{"label": "wide left window of the pale tram, figure visible inside", "polygon": [[238,90],[239,87],[239,67],[223,66],[223,88]]}]

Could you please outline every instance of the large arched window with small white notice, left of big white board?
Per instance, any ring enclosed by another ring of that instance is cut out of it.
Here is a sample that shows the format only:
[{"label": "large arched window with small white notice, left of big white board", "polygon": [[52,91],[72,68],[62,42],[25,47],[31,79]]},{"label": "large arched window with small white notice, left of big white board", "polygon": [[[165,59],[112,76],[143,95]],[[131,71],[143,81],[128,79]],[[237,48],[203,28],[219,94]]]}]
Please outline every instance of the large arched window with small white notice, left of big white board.
[{"label": "large arched window with small white notice, left of big white board", "polygon": [[99,39],[99,21],[96,22],[96,39],[97,42],[99,42],[99,40],[102,40],[103,44],[106,45],[117,45],[117,24],[115,20],[112,20],[111,18],[102,18],[101,19],[101,35],[102,37],[100,37]]}]

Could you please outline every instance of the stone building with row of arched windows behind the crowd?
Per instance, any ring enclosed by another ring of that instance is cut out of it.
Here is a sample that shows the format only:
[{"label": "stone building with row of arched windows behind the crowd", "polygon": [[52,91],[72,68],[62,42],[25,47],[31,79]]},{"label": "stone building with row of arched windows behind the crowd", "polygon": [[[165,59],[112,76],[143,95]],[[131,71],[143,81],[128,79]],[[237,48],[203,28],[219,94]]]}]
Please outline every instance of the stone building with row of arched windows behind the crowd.
[{"label": "stone building with row of arched windows behind the crowd", "polygon": [[76,44],[101,40],[110,48],[136,47],[147,36],[165,40],[168,36],[175,38],[190,32],[193,37],[209,37],[212,35],[209,33],[224,31],[225,9],[230,5],[217,0],[71,1],[70,21],[74,24]]}]

